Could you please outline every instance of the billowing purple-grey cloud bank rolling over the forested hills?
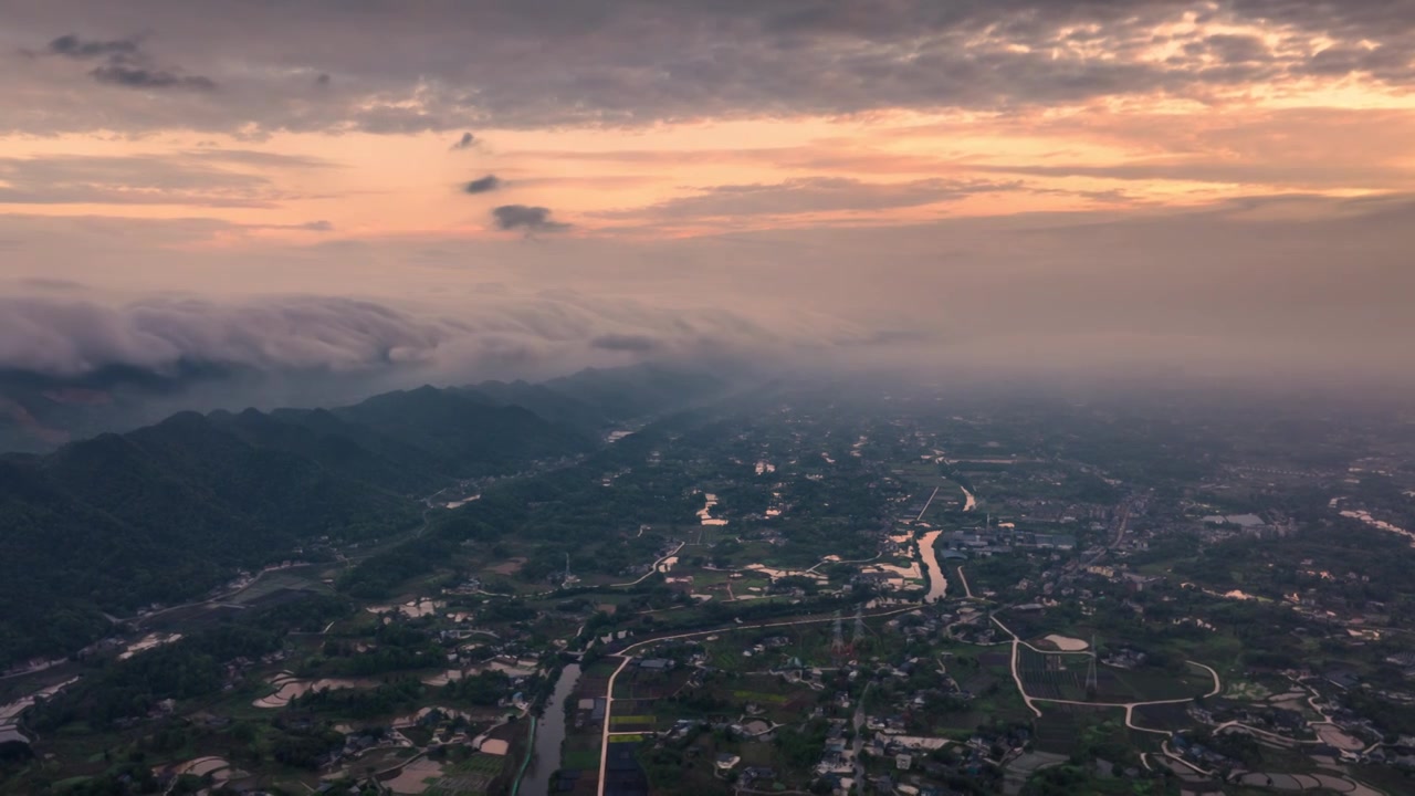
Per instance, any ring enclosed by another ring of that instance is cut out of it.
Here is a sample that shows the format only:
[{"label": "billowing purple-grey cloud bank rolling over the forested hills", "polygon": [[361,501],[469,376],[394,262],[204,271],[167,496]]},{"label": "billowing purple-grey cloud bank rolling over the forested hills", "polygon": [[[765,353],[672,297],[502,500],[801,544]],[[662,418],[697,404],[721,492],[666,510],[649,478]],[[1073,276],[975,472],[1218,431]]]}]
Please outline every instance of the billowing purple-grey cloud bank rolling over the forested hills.
[{"label": "billowing purple-grey cloud bank rolling over the forested hills", "polygon": [[621,363],[624,354],[763,356],[818,347],[818,340],[843,334],[838,323],[782,333],[720,309],[669,309],[573,292],[466,302],[429,312],[330,296],[150,297],[116,305],[42,293],[0,297],[0,385],[126,384],[173,391],[192,381],[258,375],[366,387],[463,382],[558,375],[586,364]]}]

